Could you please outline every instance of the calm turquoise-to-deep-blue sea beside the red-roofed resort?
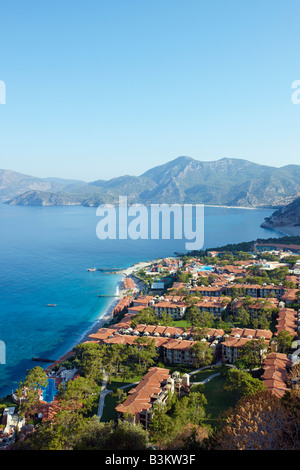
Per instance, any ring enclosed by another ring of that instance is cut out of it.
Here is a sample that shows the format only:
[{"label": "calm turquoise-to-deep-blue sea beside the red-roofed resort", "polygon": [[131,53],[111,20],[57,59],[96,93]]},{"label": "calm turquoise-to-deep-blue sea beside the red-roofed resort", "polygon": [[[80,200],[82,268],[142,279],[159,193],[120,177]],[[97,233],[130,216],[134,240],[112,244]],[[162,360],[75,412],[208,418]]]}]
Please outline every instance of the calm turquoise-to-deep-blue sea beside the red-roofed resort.
[{"label": "calm turquoise-to-deep-blue sea beside the red-roofed resort", "polygon": [[[272,212],[204,207],[203,248],[282,236],[260,227]],[[67,353],[116,301],[109,296],[121,274],[98,269],[185,252],[186,240],[172,238],[172,230],[170,239],[99,239],[98,223],[95,207],[0,204],[0,397],[15,390],[28,369],[47,366],[33,357],[56,360]]]}]

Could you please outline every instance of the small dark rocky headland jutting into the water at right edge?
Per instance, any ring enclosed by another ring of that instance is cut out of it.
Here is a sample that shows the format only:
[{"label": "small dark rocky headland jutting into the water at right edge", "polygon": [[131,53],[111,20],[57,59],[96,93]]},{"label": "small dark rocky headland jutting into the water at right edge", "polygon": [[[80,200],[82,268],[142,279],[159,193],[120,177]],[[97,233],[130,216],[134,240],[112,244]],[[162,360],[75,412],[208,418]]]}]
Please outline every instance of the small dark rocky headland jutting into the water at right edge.
[{"label": "small dark rocky headland jutting into the water at right edge", "polygon": [[291,204],[275,211],[261,224],[265,228],[299,227],[300,230],[300,197]]}]

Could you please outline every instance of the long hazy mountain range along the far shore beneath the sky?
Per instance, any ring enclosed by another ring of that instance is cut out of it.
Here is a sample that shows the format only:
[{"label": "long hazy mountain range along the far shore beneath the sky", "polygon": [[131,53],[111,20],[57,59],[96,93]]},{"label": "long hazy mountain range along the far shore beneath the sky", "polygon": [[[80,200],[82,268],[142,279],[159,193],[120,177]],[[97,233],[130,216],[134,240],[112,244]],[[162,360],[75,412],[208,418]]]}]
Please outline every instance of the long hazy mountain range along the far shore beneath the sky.
[{"label": "long hazy mountain range along the far shore beneath the sky", "polygon": [[[97,206],[118,203],[119,196],[127,196],[129,203],[142,204],[280,207],[300,195],[299,165],[275,168],[235,158],[205,162],[182,156],[140,176],[90,183],[7,173],[1,176],[0,172],[0,201],[9,204],[31,205],[40,200],[41,205],[66,202]],[[38,196],[31,191],[37,191]],[[51,198],[49,194],[64,197]]]}]

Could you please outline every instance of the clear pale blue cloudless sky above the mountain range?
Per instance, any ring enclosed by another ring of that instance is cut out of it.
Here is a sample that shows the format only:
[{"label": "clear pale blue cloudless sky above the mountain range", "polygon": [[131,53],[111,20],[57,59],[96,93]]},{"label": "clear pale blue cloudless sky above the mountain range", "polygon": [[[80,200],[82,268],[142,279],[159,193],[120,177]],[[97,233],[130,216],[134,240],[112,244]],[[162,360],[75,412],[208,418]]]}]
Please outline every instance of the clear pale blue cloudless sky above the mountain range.
[{"label": "clear pale blue cloudless sky above the mountain range", "polygon": [[0,18],[0,168],[300,164],[299,0],[10,0]]}]

